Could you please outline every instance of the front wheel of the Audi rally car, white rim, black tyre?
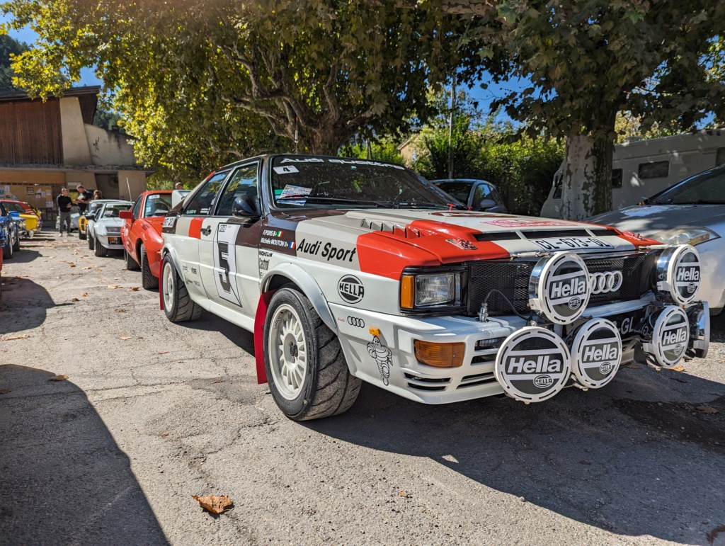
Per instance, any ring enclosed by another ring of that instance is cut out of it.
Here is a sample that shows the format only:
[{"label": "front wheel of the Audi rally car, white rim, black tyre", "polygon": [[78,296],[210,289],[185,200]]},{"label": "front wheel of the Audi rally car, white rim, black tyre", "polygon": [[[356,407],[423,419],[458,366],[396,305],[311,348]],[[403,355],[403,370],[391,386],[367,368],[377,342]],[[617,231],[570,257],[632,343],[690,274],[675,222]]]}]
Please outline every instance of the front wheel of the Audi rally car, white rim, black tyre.
[{"label": "front wheel of the Audi rally car, white rim, black tyre", "polygon": [[344,413],[357,399],[362,381],[349,373],[339,339],[297,289],[272,297],[264,348],[270,392],[294,421]]}]

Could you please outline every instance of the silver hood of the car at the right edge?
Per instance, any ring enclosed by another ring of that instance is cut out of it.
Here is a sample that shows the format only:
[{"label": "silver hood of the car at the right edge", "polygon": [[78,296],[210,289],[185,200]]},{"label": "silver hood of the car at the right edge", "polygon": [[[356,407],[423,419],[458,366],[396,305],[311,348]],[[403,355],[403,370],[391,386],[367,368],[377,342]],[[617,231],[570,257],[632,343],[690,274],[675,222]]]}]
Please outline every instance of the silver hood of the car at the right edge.
[{"label": "silver hood of the car at the right edge", "polygon": [[648,204],[589,218],[588,222],[650,236],[666,229],[708,227],[725,222],[724,204]]}]

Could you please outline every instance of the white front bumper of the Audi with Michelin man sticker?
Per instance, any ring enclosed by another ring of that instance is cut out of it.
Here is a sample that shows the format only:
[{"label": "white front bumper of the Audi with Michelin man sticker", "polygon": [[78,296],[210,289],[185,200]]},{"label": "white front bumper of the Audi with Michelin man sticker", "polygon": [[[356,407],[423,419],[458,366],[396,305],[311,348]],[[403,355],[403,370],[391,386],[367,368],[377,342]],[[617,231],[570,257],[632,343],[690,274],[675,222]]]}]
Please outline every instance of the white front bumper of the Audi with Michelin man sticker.
[{"label": "white front bumper of the Audi with Michelin man sticker", "polygon": [[[650,305],[656,305],[652,294],[634,301],[590,307],[586,320],[613,320],[622,336],[621,363],[627,363],[634,360],[635,348],[640,343],[640,332],[636,331],[634,324],[644,317]],[[703,309],[699,302],[687,307],[688,315],[693,316],[695,310]],[[504,389],[494,375],[497,354],[510,334],[529,325],[515,315],[492,317],[481,323],[476,318],[463,316],[410,318],[336,304],[330,304],[330,308],[352,373],[402,397],[426,404],[503,394]],[[579,324],[551,326],[550,329],[566,339],[568,331]],[[378,328],[380,335],[373,335],[370,328],[373,331]],[[691,328],[694,326],[691,325]],[[415,357],[416,339],[463,343],[463,365],[436,368],[419,362]],[[693,342],[691,338],[691,349]]]}]

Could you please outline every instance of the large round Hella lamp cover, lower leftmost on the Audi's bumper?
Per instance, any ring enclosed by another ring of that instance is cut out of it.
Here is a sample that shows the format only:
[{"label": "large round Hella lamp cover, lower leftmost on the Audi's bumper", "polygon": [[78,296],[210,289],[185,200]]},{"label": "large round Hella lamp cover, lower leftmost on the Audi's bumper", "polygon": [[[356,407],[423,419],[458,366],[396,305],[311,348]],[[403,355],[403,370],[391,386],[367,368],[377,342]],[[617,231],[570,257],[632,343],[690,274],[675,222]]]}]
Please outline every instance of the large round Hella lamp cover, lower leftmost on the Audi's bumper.
[{"label": "large round Hella lamp cover, lower leftmost on the Audi's bumper", "polygon": [[494,375],[506,394],[523,402],[542,402],[557,394],[571,374],[566,343],[546,328],[526,326],[503,342]]}]

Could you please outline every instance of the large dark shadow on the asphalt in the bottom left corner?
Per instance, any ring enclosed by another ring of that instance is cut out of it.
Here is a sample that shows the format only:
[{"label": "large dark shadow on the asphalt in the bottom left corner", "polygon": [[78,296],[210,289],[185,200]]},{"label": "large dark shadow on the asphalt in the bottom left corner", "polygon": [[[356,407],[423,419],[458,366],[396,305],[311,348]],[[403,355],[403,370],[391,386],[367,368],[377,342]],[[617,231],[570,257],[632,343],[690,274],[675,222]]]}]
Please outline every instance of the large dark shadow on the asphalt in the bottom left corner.
[{"label": "large dark shadow on the asphalt in the bottom left corner", "polygon": [[0,542],[166,544],[128,456],[54,375],[0,366]]}]

